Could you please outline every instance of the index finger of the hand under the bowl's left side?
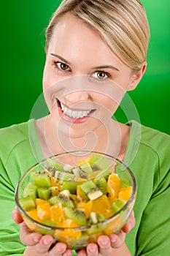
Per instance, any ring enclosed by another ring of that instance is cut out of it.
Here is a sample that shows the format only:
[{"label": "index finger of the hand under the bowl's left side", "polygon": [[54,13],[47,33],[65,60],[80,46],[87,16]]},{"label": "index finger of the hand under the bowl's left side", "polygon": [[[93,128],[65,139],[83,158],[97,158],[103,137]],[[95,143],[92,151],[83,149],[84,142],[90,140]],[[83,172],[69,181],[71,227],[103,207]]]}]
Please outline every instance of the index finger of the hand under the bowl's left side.
[{"label": "index finger of the hand under the bowl's left side", "polygon": [[20,241],[26,246],[34,246],[39,243],[42,235],[39,233],[32,233],[25,222],[20,224]]}]

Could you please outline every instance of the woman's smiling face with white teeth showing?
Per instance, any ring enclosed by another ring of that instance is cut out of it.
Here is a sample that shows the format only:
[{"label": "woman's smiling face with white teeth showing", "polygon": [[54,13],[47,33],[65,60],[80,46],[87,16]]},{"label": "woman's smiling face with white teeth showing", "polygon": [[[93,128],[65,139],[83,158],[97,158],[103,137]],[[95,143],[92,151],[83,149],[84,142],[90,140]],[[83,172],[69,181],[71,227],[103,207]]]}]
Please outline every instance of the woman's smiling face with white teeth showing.
[{"label": "woman's smiling face with white teeth showing", "polygon": [[43,91],[53,120],[67,125],[71,137],[107,122],[136,79],[90,26],[69,13],[60,18],[47,50]]}]

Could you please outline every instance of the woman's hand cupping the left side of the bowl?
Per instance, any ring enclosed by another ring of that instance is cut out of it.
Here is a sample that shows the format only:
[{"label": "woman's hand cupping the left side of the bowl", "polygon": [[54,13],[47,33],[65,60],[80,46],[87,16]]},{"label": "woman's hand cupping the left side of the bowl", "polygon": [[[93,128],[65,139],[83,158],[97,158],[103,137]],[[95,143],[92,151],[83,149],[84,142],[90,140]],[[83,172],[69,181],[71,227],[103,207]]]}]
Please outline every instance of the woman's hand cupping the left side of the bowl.
[{"label": "woman's hand cupping the left side of the bowl", "polygon": [[17,207],[12,211],[12,219],[15,223],[20,224],[20,241],[27,246],[24,256],[72,256],[72,250],[66,249],[66,244],[60,242],[50,249],[53,245],[53,237],[31,232],[23,222]]}]

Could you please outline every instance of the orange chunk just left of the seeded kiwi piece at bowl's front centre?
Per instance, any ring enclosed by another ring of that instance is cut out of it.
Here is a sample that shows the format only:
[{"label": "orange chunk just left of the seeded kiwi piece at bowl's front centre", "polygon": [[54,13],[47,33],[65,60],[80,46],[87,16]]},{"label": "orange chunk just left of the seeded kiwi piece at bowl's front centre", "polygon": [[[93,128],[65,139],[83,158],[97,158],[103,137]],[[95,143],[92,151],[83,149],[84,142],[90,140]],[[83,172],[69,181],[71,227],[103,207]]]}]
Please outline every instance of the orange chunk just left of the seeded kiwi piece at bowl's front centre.
[{"label": "orange chunk just left of the seeded kiwi piece at bowl's front centre", "polygon": [[66,219],[61,203],[56,203],[55,205],[50,207],[50,219],[52,222],[56,223],[56,225]]}]

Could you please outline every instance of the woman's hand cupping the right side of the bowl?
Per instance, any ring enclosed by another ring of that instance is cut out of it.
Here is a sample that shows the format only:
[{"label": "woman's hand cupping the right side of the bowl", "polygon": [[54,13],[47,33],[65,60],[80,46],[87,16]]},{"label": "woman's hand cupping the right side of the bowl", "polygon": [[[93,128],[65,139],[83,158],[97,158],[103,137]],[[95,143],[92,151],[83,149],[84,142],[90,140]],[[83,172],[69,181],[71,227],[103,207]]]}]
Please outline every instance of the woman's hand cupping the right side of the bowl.
[{"label": "woman's hand cupping the right side of the bowl", "polygon": [[86,251],[85,249],[77,252],[78,256],[130,256],[131,253],[125,246],[125,234],[129,233],[135,225],[134,212],[132,212],[131,217],[129,217],[128,222],[122,230],[117,234],[112,234],[110,236],[99,236],[97,244],[88,244]]}]

